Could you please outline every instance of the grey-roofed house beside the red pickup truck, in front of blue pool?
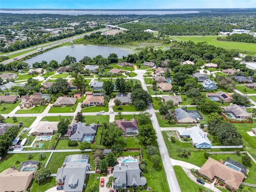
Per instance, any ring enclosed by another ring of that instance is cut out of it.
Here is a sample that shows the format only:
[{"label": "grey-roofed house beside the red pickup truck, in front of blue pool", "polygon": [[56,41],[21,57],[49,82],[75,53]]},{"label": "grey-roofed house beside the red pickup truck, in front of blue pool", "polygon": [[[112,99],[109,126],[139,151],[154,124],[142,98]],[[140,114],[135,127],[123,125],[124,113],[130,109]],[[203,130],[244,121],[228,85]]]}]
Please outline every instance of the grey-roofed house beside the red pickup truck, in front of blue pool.
[{"label": "grey-roofed house beside the red pickup truck, in front of blue pool", "polygon": [[125,165],[114,166],[113,176],[115,178],[113,188],[127,187],[138,188],[147,183],[145,177],[140,176],[140,168],[138,162],[126,162]]}]

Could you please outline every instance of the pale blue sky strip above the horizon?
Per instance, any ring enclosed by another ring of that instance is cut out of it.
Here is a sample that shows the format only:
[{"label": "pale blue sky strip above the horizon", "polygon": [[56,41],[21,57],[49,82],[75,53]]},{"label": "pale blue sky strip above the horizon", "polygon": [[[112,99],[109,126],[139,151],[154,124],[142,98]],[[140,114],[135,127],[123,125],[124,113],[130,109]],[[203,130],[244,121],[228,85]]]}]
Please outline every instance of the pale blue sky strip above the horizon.
[{"label": "pale blue sky strip above the horizon", "polygon": [[256,0],[0,0],[1,8],[189,9],[256,8]]}]

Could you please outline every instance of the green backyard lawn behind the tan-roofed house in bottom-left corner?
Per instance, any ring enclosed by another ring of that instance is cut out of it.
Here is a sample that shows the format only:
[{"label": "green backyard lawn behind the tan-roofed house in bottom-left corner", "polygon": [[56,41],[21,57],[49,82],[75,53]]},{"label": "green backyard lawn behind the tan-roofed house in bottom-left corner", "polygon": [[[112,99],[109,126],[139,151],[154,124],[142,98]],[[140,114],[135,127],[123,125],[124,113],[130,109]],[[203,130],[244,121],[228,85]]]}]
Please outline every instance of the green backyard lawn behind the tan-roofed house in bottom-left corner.
[{"label": "green backyard lawn behind the tan-roofed house in bottom-left corner", "polygon": [[[33,153],[33,158],[31,160],[36,160],[40,162],[40,166],[43,167],[46,164],[47,159],[50,156],[50,153],[45,153],[46,158],[44,160],[39,160],[38,158],[39,153]],[[7,154],[4,158],[0,161],[0,172],[6,170],[12,166],[15,166],[16,169],[20,167],[22,162],[27,161],[26,158],[27,153],[15,153],[15,154]],[[16,161],[20,161],[20,164],[15,164]],[[63,163],[63,162],[62,162]]]}]

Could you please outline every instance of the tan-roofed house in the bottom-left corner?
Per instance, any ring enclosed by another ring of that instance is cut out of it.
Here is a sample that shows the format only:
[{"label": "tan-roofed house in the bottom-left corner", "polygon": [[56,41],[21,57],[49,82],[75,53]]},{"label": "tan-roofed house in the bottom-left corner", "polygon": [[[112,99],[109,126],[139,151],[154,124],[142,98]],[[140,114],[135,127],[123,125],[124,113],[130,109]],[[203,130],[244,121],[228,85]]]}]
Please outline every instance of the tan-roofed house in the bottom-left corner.
[{"label": "tan-roofed house in the bottom-left corner", "polygon": [[14,167],[0,173],[0,191],[26,191],[34,177],[34,171],[18,171]]}]

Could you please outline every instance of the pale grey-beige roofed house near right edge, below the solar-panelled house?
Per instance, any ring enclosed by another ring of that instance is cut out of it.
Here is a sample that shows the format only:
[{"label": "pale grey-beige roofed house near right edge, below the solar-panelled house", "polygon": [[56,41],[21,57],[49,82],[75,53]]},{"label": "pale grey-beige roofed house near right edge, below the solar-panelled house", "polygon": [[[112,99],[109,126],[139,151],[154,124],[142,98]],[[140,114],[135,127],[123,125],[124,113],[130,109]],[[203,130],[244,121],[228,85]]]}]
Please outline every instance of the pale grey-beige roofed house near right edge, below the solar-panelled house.
[{"label": "pale grey-beige roofed house near right edge, below the solar-panelled house", "polygon": [[234,118],[238,119],[247,119],[252,117],[252,114],[246,111],[246,107],[240,107],[237,104],[232,104],[230,106],[225,107],[224,113],[232,114]]}]

